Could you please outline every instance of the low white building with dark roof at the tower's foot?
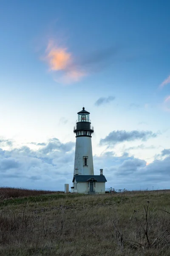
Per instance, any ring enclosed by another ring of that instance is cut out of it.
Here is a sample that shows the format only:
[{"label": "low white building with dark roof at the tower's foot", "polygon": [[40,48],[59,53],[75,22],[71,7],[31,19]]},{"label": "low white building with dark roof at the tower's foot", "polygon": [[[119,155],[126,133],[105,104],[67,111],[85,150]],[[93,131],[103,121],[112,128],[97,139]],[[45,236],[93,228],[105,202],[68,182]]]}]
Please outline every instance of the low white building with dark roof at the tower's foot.
[{"label": "low white building with dark roof at the tower's foot", "polygon": [[[102,173],[102,169],[100,173]],[[104,175],[74,175],[72,192],[84,194],[105,194]]]}]

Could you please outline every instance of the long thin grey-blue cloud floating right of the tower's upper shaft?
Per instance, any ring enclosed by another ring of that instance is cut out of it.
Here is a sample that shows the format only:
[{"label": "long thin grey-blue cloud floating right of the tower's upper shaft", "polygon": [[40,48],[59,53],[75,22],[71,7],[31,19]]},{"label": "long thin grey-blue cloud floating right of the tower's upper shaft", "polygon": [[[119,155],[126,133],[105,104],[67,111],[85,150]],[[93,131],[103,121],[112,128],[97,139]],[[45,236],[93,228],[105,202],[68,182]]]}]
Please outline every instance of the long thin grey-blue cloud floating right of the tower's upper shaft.
[{"label": "long thin grey-blue cloud floating right of the tower's upper shaft", "polygon": [[133,140],[146,141],[149,138],[157,137],[157,135],[152,131],[112,131],[105,139],[100,140],[100,145],[115,145],[116,143]]}]

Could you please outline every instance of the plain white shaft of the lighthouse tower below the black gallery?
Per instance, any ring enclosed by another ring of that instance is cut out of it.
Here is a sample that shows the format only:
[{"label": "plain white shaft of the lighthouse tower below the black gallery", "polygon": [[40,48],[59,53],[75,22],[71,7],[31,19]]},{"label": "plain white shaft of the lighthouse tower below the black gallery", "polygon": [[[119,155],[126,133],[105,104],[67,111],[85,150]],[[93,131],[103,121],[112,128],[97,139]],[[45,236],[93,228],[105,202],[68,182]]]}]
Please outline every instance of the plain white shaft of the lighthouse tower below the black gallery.
[{"label": "plain white shaft of the lighthouse tower below the black gallery", "polygon": [[[88,157],[87,166],[83,165],[83,157]],[[74,158],[74,175],[94,175],[91,137],[77,137]]]}]

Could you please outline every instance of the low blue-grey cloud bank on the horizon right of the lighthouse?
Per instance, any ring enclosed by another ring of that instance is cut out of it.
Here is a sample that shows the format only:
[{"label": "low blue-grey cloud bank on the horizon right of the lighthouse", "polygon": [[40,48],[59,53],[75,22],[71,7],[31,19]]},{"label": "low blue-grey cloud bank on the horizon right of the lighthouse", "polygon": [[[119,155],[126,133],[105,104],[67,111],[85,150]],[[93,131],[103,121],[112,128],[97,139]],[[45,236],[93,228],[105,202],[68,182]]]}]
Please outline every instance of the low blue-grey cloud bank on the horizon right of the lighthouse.
[{"label": "low blue-grey cloud bank on the horizon right of the lighthouse", "polygon": [[170,157],[156,159],[152,163],[124,154],[102,154],[94,157],[96,170],[103,168],[107,178],[106,188],[115,189],[165,189],[169,188]]}]

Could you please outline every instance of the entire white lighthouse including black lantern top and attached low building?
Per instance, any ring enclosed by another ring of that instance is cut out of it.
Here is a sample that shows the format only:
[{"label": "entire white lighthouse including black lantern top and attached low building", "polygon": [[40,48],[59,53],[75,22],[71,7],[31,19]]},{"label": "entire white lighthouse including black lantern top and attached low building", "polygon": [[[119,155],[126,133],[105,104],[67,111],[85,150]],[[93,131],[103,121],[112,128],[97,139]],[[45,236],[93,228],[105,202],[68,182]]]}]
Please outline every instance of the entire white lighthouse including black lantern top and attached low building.
[{"label": "entire white lighthouse including black lantern top and attached low building", "polygon": [[76,135],[76,148],[74,158],[74,177],[72,192],[77,193],[105,193],[105,182],[103,169],[100,169],[100,175],[94,175],[93,154],[91,138],[94,128],[89,118],[90,113],[82,108],[78,113],[78,119],[74,126]]}]

